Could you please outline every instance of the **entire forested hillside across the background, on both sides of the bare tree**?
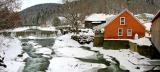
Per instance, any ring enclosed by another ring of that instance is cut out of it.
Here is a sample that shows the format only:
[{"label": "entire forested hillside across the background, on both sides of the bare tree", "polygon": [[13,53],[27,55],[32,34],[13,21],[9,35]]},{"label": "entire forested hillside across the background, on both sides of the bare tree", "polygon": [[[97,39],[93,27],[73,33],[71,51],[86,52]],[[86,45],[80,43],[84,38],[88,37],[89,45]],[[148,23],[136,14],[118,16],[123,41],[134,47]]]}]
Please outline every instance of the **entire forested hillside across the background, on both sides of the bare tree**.
[{"label": "entire forested hillside across the background, on both sides of the bare tree", "polygon": [[[66,1],[64,0],[64,4]],[[22,25],[42,25],[47,21],[53,21],[53,17],[63,16],[68,11],[67,8],[63,11],[60,10],[67,7],[63,6],[64,4],[49,3],[27,8],[21,11]],[[118,14],[126,8],[134,14],[155,14],[160,9],[160,0],[72,0],[68,4],[72,4],[72,7],[83,7],[79,8],[79,13],[85,12],[87,9],[87,14]]]}]

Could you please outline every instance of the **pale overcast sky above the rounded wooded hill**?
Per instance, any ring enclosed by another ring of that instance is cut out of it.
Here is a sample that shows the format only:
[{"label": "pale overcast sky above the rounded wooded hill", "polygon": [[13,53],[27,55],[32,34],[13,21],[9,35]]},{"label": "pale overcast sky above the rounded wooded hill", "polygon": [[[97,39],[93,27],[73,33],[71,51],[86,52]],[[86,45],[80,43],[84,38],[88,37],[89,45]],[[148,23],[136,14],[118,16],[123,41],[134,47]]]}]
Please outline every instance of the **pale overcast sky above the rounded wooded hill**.
[{"label": "pale overcast sky above the rounded wooded hill", "polygon": [[61,0],[22,0],[21,10],[36,4],[43,4],[43,3],[62,3],[62,2]]}]

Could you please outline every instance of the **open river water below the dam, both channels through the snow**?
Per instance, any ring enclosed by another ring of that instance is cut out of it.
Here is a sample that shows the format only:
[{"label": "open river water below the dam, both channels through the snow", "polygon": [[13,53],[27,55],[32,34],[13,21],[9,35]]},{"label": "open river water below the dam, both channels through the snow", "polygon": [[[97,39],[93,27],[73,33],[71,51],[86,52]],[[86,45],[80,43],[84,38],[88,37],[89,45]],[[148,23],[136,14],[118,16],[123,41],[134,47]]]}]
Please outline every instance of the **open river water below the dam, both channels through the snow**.
[{"label": "open river water below the dam, both channels through the snow", "polygon": [[[22,39],[22,43],[24,43],[23,50],[26,52],[30,57],[25,59],[25,67],[23,72],[45,72],[50,64],[49,60],[52,58],[52,55],[49,55],[50,57],[44,57],[42,53],[35,53],[36,48],[32,44],[29,44],[29,41],[33,41],[35,43],[38,43],[38,45],[41,45],[42,47],[47,47],[51,49],[51,46],[53,46],[55,39]],[[80,47],[85,50],[93,51],[89,47]],[[52,52],[54,52],[52,50]],[[83,58],[77,58],[83,62],[90,62],[90,63],[100,63],[105,64],[107,68],[99,69],[98,72],[128,72],[128,70],[123,70],[119,67],[119,62],[114,57],[112,58],[112,61],[114,63],[107,61],[105,58],[103,58],[103,55],[100,54],[98,51],[96,52],[97,58],[95,59],[83,59]]]}]

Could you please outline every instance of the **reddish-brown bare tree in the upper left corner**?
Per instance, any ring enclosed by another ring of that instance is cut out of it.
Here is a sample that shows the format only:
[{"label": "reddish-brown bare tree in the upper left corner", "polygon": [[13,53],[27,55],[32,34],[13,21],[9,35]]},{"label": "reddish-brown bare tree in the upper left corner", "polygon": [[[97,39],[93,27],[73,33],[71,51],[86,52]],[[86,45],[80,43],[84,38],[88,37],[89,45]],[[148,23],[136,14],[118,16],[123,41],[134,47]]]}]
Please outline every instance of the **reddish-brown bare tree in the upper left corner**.
[{"label": "reddish-brown bare tree in the upper left corner", "polygon": [[20,22],[20,0],[0,0],[0,30],[13,28]]}]

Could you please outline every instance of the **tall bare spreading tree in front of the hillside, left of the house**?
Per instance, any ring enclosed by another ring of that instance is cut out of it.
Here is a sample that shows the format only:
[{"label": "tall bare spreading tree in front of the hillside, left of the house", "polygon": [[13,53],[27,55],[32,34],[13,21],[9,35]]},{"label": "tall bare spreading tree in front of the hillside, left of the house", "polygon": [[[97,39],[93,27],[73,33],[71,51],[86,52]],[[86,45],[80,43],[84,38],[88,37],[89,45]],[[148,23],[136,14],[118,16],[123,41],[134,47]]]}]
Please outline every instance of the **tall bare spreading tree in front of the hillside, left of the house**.
[{"label": "tall bare spreading tree in front of the hillside, left of the house", "polygon": [[68,0],[64,1],[61,11],[64,12],[64,17],[69,21],[72,28],[78,34],[79,26],[84,22],[85,16],[90,13],[90,6],[85,2],[85,0],[76,0],[69,2]]}]

